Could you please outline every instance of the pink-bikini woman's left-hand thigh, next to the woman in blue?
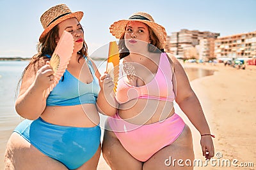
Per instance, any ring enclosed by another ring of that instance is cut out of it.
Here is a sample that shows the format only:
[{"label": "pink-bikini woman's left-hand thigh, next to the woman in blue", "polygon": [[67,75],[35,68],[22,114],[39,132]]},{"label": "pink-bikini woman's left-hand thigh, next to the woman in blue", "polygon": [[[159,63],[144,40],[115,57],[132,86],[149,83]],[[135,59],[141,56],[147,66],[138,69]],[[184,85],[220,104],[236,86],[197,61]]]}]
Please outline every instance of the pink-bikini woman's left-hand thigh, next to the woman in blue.
[{"label": "pink-bikini woman's left-hand thigh, next to the woman in blue", "polygon": [[120,141],[116,138],[114,132],[106,129],[102,142],[102,155],[111,169],[142,169],[143,163],[134,159],[134,157],[125,150]]}]

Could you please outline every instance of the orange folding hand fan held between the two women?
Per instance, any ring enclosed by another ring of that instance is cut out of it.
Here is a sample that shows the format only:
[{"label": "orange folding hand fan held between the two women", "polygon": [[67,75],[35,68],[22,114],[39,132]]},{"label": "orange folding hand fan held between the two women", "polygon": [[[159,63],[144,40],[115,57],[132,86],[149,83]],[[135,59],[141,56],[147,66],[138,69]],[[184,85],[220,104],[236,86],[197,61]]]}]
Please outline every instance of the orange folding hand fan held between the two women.
[{"label": "orange folding hand fan held between the two women", "polygon": [[108,50],[108,62],[106,71],[110,74],[111,78],[115,83],[114,91],[116,92],[116,85],[118,81],[119,74],[119,51],[118,45],[116,41],[109,42],[109,50]]}]

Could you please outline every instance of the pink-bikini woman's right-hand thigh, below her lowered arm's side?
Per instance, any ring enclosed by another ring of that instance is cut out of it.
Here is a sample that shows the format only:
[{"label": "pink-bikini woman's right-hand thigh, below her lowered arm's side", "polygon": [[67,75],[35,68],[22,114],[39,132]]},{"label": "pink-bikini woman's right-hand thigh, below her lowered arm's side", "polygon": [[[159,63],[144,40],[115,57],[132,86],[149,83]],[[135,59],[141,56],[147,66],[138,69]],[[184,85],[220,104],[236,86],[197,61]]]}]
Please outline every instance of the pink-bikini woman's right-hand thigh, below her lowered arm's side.
[{"label": "pink-bikini woman's right-hand thigh, below her lowered arm's side", "polygon": [[193,169],[193,160],[193,140],[186,125],[179,138],[155,153],[143,164],[143,169]]}]

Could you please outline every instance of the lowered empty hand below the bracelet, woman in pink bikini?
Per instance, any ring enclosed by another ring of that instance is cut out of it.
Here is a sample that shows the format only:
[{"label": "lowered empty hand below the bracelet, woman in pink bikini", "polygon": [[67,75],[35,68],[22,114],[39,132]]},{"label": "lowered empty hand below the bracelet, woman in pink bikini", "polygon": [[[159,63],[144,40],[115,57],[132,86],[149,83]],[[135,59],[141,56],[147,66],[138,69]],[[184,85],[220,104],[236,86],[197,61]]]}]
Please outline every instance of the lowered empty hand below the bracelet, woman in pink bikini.
[{"label": "lowered empty hand below the bracelet, woman in pink bikini", "polygon": [[203,156],[206,159],[211,159],[212,157],[214,157],[214,146],[212,142],[212,136],[201,136],[200,143],[202,146]]}]

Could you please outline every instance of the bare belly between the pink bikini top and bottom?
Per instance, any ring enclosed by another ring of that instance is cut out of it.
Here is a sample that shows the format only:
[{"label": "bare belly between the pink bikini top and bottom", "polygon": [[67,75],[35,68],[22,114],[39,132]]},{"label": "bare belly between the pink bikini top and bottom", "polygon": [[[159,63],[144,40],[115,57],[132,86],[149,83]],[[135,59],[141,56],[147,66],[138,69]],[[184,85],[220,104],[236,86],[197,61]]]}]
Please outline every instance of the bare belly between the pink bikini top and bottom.
[{"label": "bare belly between the pink bikini top and bottom", "polygon": [[153,124],[171,117],[173,102],[155,99],[134,99],[120,104],[118,115],[131,124]]}]

